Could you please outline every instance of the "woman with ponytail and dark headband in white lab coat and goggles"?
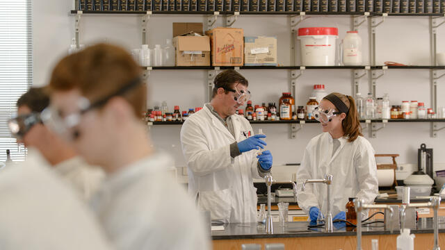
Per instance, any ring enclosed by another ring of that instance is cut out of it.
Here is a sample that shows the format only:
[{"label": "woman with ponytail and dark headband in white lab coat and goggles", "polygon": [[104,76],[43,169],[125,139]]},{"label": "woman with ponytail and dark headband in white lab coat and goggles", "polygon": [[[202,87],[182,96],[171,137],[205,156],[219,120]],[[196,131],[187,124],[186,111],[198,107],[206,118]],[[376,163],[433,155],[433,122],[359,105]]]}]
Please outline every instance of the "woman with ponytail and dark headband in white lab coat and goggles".
[{"label": "woman with ponytail and dark headband in white lab coat and goggles", "polygon": [[[333,219],[346,219],[349,197],[373,202],[378,194],[374,150],[361,133],[353,97],[328,94],[314,110],[323,133],[307,144],[298,179],[321,179],[332,174],[331,213]],[[309,183],[298,194],[298,206],[314,222],[321,211],[327,213],[327,189],[324,184]]]}]

